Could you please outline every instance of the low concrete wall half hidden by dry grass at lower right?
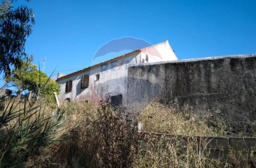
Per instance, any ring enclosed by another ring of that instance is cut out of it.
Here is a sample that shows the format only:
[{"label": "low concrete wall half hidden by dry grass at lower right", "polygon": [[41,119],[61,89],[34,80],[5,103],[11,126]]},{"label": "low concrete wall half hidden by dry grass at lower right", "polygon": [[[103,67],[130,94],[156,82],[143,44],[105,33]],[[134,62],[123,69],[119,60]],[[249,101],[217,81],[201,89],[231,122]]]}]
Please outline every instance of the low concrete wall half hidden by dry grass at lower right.
[{"label": "low concrete wall half hidden by dry grass at lower right", "polygon": [[[158,132],[141,132],[140,149],[146,150],[148,147],[152,149],[154,146],[148,145],[148,142],[159,144],[159,140],[161,148],[165,149],[166,147],[166,152],[173,152],[172,149],[169,150],[168,148],[170,142],[176,147],[176,152],[180,155],[186,154],[188,152],[186,147],[193,145],[194,149],[202,152],[203,157],[218,159],[222,162],[234,161],[234,156],[236,156],[237,161],[242,161],[242,158],[245,158],[243,160],[250,162],[255,157],[256,152],[255,137],[197,137]],[[159,146],[156,148],[159,149]]]}]

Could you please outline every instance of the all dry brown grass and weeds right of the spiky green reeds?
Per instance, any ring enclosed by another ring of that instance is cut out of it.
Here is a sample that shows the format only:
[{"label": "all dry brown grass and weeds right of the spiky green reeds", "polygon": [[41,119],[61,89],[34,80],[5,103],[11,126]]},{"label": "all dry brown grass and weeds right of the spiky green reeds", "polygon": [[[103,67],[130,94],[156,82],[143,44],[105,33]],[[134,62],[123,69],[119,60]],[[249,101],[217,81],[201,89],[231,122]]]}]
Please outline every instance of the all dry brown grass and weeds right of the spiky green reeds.
[{"label": "all dry brown grass and weeds right of the spiky green reeds", "polygon": [[[128,120],[125,110],[113,110],[103,103],[93,108],[88,103],[68,103],[61,107],[66,114],[66,140],[44,150],[41,167],[255,167],[254,150],[230,150],[227,156],[206,146],[209,140],[193,136],[225,135],[225,125],[208,127],[194,116],[190,107],[178,112],[153,103],[138,116]],[[202,116],[200,116],[202,117]],[[143,131],[165,134],[138,134]],[[186,135],[186,136],[180,136]],[[188,135],[191,135],[188,137]],[[224,159],[223,159],[224,158]],[[36,165],[36,162],[34,162]]]}]

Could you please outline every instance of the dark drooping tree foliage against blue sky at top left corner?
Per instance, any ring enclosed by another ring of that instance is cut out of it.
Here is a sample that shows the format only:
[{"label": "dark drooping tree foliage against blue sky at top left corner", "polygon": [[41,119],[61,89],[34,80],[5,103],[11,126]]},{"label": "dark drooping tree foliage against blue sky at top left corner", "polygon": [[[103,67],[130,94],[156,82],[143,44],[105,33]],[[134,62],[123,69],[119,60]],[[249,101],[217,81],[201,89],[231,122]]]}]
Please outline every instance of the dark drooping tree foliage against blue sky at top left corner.
[{"label": "dark drooping tree foliage against blue sky at top left corner", "polygon": [[0,73],[9,75],[12,65],[26,58],[26,38],[32,33],[34,12],[27,6],[14,9],[9,0],[0,4]]}]

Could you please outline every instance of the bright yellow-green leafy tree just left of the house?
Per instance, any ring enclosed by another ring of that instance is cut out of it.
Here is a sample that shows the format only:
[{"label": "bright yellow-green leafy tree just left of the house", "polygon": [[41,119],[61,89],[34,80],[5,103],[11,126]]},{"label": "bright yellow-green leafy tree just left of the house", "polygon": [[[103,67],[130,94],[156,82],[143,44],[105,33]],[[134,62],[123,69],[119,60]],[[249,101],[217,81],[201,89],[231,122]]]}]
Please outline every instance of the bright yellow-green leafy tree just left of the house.
[{"label": "bright yellow-green leafy tree just left of the house", "polygon": [[39,93],[44,95],[47,100],[53,100],[53,93],[60,92],[58,83],[38,70],[37,66],[31,63],[32,61],[33,56],[27,56],[20,67],[14,68],[11,70],[11,75],[6,76],[6,82],[18,88],[19,92],[29,90],[36,95]]}]

